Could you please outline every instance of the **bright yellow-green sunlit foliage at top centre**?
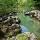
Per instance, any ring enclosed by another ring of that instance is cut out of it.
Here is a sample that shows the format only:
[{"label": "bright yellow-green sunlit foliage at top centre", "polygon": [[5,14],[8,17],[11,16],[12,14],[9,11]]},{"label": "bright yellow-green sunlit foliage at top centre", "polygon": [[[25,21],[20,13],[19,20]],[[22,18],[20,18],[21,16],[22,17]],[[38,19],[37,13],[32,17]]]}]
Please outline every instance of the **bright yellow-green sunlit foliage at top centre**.
[{"label": "bright yellow-green sunlit foliage at top centre", "polygon": [[18,9],[19,11],[28,11],[31,10],[33,7],[33,0],[19,0],[18,1]]}]

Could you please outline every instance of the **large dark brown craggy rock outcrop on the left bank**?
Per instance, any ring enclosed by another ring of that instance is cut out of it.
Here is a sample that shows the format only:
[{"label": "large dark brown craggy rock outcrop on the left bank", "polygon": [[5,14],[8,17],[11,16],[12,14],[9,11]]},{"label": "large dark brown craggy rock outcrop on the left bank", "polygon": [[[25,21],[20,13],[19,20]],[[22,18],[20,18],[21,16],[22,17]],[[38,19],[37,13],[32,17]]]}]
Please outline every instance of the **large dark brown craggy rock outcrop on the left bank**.
[{"label": "large dark brown craggy rock outcrop on the left bank", "polygon": [[17,34],[21,33],[20,21],[21,20],[17,16],[3,16],[0,25],[3,36],[5,36],[4,38],[11,38],[12,36],[16,36]]}]

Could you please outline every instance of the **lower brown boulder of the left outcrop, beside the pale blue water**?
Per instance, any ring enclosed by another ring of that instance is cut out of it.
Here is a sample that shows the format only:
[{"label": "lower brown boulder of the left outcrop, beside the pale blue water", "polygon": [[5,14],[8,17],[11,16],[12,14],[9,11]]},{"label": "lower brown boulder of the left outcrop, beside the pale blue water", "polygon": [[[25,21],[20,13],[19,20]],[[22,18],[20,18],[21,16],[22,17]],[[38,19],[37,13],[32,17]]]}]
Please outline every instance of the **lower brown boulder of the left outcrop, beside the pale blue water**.
[{"label": "lower brown boulder of the left outcrop, beside the pale blue water", "polygon": [[21,33],[21,27],[18,24],[12,24],[12,26],[9,26],[9,29],[7,29],[8,32],[12,32],[12,35],[17,35]]}]

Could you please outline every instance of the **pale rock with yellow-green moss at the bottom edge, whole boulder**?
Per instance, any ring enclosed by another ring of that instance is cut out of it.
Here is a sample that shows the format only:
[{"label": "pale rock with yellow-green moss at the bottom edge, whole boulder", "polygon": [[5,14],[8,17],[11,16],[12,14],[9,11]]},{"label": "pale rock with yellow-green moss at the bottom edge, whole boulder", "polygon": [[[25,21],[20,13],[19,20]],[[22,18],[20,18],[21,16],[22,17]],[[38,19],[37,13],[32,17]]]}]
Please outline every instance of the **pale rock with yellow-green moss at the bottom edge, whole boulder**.
[{"label": "pale rock with yellow-green moss at the bottom edge, whole boulder", "polygon": [[37,37],[34,33],[30,33],[30,32],[24,32],[21,34],[18,34],[16,36],[17,40],[37,40]]}]

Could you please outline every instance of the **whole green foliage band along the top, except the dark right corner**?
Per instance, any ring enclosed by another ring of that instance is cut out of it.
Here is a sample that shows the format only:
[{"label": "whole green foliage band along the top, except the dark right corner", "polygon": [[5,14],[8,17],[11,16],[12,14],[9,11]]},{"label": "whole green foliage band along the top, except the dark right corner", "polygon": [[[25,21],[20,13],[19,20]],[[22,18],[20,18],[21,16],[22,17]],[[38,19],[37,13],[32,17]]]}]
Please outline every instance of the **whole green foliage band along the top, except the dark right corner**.
[{"label": "whole green foliage band along the top, except the dark right corner", "polygon": [[31,10],[33,0],[0,0],[0,13]]}]

